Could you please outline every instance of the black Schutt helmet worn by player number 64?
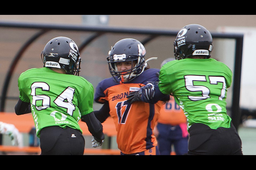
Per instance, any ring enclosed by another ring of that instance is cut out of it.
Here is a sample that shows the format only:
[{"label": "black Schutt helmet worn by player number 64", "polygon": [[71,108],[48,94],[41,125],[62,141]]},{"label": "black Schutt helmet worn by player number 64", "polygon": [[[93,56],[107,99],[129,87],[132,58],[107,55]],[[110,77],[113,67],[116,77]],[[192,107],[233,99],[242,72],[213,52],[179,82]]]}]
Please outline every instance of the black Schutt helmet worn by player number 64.
[{"label": "black Schutt helmet worn by player number 64", "polygon": [[51,39],[41,53],[44,67],[55,67],[66,70],[67,74],[78,75],[81,58],[78,47],[68,37]]}]

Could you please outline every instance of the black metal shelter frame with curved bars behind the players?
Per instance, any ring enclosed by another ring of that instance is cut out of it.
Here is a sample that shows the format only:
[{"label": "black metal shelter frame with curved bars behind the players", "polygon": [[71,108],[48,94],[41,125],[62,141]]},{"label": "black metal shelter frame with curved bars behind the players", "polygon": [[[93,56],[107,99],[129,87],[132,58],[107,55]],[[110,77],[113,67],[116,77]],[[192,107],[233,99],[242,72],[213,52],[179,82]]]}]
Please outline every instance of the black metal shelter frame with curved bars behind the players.
[{"label": "black metal shelter frame with curved bars behind the players", "polygon": [[[39,29],[40,31],[33,35],[18,51],[13,62],[11,63],[10,69],[6,75],[4,86],[1,96],[0,111],[5,111],[5,100],[6,93],[9,87],[9,82],[13,73],[13,70],[17,62],[22,57],[25,50],[40,36],[45,34],[50,30],[65,30],[65,31],[82,31],[82,32],[94,32],[92,36],[87,38],[79,47],[81,52],[86,48],[88,44],[94,41],[99,36],[105,33],[132,33],[149,35],[146,39],[141,41],[144,45],[149,41],[155,39],[158,36],[176,36],[178,30],[159,30],[159,29],[138,29],[138,28],[117,28],[117,27],[97,27],[97,26],[86,26],[86,25],[57,25],[57,24],[36,24],[36,23],[21,23],[21,22],[0,22],[0,28],[27,28],[27,29]],[[243,34],[235,33],[217,33],[211,32],[213,38],[225,38],[225,39],[235,39],[235,64],[234,64],[234,81],[233,81],[233,97],[231,104],[231,118],[236,129],[240,124],[241,111],[239,106],[240,97],[240,84],[241,84],[241,68],[242,68],[242,49],[243,49]]]}]

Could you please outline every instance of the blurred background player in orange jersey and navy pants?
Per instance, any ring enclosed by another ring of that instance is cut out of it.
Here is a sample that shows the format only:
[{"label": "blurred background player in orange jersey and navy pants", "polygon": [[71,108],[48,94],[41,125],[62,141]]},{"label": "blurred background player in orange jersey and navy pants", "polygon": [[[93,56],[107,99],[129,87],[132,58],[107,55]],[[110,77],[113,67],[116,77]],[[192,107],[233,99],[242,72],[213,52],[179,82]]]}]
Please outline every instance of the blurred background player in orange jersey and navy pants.
[{"label": "blurred background player in orange jersey and navy pants", "polygon": [[[167,58],[161,67],[175,58]],[[170,95],[170,100],[162,105],[157,125],[154,128],[160,155],[183,155],[188,151],[187,118],[183,110]]]}]

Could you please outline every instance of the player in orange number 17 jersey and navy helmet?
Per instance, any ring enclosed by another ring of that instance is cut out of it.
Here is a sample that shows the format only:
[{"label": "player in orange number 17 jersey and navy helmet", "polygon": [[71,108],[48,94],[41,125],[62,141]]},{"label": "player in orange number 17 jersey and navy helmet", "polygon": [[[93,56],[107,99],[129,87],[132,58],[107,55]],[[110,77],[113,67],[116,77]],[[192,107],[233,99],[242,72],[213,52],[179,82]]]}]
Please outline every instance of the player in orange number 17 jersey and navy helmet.
[{"label": "player in orange number 17 jersey and navy helmet", "polygon": [[121,155],[159,155],[153,129],[163,102],[130,104],[126,98],[148,82],[158,81],[159,69],[148,67],[147,61],[153,58],[145,60],[145,54],[138,40],[119,40],[107,57],[112,77],[102,80],[95,91],[94,100],[103,104],[94,111],[95,116],[101,123],[109,116],[113,118]]}]

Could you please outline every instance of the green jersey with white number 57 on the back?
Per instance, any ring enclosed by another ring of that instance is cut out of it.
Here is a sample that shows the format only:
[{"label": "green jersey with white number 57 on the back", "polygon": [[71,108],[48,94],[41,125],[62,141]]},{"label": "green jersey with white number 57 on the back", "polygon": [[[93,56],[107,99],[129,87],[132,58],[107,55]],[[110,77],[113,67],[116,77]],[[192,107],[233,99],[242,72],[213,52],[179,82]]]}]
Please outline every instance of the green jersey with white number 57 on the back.
[{"label": "green jersey with white number 57 on the back", "polygon": [[217,129],[230,127],[226,92],[231,82],[232,72],[224,63],[213,58],[186,58],[163,65],[158,86],[163,94],[173,93],[187,117],[188,130],[194,123]]}]

